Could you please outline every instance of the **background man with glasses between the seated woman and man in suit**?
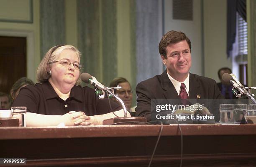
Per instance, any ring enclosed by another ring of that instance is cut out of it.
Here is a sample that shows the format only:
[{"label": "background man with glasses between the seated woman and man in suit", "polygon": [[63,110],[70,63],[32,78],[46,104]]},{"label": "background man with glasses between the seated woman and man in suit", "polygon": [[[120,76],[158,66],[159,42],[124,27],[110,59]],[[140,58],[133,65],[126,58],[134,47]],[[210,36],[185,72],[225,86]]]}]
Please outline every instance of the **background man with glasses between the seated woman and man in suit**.
[{"label": "background man with glasses between the seated woman and man in suit", "polygon": [[120,90],[115,90],[115,94],[117,94],[118,97],[123,100],[125,108],[130,112],[131,116],[135,116],[135,107],[131,107],[133,101],[133,91],[131,90],[130,83],[123,77],[116,77],[110,82],[109,87],[116,87],[117,85],[122,88]]}]

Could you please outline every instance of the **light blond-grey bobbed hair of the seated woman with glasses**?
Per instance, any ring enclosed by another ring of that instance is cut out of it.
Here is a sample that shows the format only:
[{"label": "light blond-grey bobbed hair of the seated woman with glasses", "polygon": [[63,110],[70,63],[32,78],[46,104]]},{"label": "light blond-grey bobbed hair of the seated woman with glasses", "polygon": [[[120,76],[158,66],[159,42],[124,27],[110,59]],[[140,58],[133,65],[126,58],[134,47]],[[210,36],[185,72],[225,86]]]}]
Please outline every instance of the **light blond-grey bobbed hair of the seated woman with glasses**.
[{"label": "light blond-grey bobbed hair of the seated woman with glasses", "polygon": [[[59,54],[63,51],[63,50],[73,50],[78,57],[79,63],[80,63],[80,56],[81,56],[81,52],[79,52],[79,50],[72,46],[72,45],[58,45],[58,46],[54,46],[51,49],[48,50],[48,52],[45,54],[43,60],[40,62],[38,69],[37,69],[37,73],[36,73],[36,79],[38,80],[38,82],[40,83],[44,83],[46,81],[48,81],[49,79],[49,75],[47,74],[47,68],[49,66],[52,65],[52,63],[54,61],[56,61],[56,59],[58,58]],[[80,70],[79,70],[80,73]],[[79,76],[76,85],[80,85],[81,83],[81,78]]]}]

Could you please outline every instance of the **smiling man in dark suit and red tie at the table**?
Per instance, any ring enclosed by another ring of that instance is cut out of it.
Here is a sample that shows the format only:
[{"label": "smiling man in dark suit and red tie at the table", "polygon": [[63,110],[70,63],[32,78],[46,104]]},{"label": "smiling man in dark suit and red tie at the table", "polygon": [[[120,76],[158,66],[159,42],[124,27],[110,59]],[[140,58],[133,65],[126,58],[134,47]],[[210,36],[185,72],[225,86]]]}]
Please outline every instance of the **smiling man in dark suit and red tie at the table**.
[{"label": "smiling man in dark suit and red tie at the table", "polygon": [[[186,99],[200,103],[201,99],[222,98],[215,80],[189,73],[190,51],[191,42],[183,32],[169,31],[162,37],[159,53],[166,70],[137,85],[137,116],[151,120],[151,99],[180,99],[184,105]],[[218,121],[218,111],[213,114]]]}]

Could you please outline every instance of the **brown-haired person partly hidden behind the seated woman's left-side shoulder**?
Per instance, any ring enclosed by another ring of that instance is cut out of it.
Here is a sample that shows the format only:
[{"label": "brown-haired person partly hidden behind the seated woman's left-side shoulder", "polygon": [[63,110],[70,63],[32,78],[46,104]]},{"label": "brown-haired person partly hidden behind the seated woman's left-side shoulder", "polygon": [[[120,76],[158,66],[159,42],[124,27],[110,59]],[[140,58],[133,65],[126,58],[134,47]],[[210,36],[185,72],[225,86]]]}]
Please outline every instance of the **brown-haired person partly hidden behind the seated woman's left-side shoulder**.
[{"label": "brown-haired person partly hidden behind the seated woman's left-side shoulder", "polygon": [[13,84],[13,87],[10,90],[10,99],[11,99],[10,105],[13,104],[13,101],[18,96],[20,92],[20,88],[25,87],[27,85],[34,85],[34,82],[31,79],[28,79],[27,77],[22,77]]}]

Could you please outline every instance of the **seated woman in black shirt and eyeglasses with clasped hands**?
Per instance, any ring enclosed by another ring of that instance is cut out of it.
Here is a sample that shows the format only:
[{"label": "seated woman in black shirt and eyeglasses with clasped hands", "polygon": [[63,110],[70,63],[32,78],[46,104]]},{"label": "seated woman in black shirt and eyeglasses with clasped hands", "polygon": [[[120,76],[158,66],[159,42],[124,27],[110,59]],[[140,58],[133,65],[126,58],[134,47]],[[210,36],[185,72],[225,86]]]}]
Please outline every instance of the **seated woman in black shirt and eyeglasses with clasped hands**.
[{"label": "seated woman in black shirt and eyeglasses with clasped hands", "polygon": [[[32,113],[55,117],[58,115],[67,122],[66,125],[101,125],[103,120],[115,117],[107,99],[99,100],[92,88],[79,85],[82,67],[80,55],[79,50],[72,45],[55,46],[46,53],[37,70],[39,83],[20,89],[12,105],[27,107],[28,126],[28,117]],[[111,107],[118,111],[115,112],[116,115],[123,117],[120,106],[111,102]],[[31,119],[33,117],[40,119],[40,116],[35,114],[32,114]],[[50,121],[41,121],[40,125],[61,122],[61,119],[58,119],[52,123],[52,117],[48,118]]]}]

